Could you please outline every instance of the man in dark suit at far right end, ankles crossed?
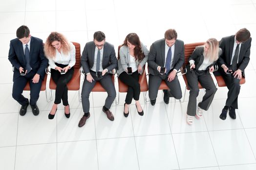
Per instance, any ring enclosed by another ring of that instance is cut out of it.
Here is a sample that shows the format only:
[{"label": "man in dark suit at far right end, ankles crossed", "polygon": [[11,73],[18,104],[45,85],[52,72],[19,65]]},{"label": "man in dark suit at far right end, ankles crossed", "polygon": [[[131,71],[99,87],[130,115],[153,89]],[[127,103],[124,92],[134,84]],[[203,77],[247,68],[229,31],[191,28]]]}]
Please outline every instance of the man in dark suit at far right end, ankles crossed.
[{"label": "man in dark suit at far right end, ankles crossed", "polygon": [[[229,110],[229,116],[236,118],[235,109],[238,109],[237,98],[240,92],[240,80],[244,77],[244,69],[250,60],[252,38],[246,29],[240,29],[235,35],[224,37],[220,40],[219,47],[222,49],[217,63],[220,73],[229,89],[226,105],[219,116],[225,120]],[[218,74],[217,72],[215,75]]]}]

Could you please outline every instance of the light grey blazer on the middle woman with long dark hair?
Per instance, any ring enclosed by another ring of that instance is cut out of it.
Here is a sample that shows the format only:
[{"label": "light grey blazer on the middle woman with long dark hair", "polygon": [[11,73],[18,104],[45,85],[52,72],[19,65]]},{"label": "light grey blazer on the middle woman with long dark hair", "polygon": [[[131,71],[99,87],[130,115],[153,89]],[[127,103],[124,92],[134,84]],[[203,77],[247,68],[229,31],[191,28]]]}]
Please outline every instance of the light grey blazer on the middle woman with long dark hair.
[{"label": "light grey blazer on the middle woman with long dark hair", "polygon": [[[149,50],[147,49],[147,47],[142,43],[141,43],[141,47],[145,57],[141,61],[136,60],[136,66],[138,67],[138,65],[140,65],[142,67],[142,71],[139,72],[140,74],[143,73],[143,70],[144,70],[143,66],[146,64],[149,58]],[[129,67],[129,64],[130,64],[129,48],[125,45],[122,46],[120,48],[119,54],[120,54],[120,59],[118,60],[118,76]]]}]

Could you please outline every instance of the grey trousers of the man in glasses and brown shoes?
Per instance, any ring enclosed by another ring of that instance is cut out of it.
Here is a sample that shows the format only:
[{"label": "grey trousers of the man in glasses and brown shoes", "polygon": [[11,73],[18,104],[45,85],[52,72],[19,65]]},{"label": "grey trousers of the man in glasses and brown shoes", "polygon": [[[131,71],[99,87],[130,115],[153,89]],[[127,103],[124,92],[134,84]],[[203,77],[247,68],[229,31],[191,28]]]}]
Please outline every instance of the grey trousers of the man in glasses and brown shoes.
[{"label": "grey trousers of the man in glasses and brown shoes", "polygon": [[110,109],[111,104],[114,102],[116,98],[116,90],[111,78],[112,74],[107,73],[102,78],[97,78],[94,71],[90,71],[90,73],[94,81],[92,81],[92,83],[89,83],[86,80],[86,75],[85,75],[85,81],[82,88],[82,105],[83,105],[84,112],[85,113],[89,112],[89,109],[90,109],[89,95],[97,81],[99,81],[100,84],[103,86],[103,88],[107,91],[107,99],[105,100],[105,107]]}]

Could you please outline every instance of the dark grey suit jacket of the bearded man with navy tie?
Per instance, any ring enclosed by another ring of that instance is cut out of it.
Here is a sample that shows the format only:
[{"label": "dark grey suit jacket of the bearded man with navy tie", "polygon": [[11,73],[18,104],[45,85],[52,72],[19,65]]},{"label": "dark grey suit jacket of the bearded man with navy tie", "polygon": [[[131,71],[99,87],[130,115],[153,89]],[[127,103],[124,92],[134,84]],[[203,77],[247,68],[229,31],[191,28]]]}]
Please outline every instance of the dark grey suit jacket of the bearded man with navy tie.
[{"label": "dark grey suit jacket of the bearded man with navy tie", "polygon": [[[179,70],[184,63],[184,42],[177,39],[173,55],[173,68]],[[165,39],[155,41],[149,50],[149,73],[152,75],[160,74],[157,67],[165,65]]]}]

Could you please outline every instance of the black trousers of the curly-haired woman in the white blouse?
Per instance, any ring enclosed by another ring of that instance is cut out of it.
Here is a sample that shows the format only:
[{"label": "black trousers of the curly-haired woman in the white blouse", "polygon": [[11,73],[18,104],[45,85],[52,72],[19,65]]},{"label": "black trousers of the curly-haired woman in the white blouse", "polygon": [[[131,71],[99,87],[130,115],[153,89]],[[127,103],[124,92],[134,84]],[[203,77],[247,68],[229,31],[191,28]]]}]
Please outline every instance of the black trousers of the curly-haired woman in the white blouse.
[{"label": "black trousers of the curly-haired woman in the white blouse", "polygon": [[[62,65],[55,63],[56,66],[64,68],[67,65]],[[71,80],[74,74],[74,68],[70,68],[67,70],[65,74],[61,74],[58,70],[51,68],[51,77],[56,84],[56,91],[55,91],[55,104],[60,104],[61,100],[64,106],[68,105],[67,101],[67,83]]]}]

